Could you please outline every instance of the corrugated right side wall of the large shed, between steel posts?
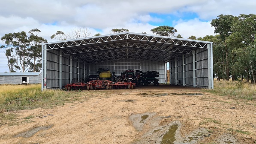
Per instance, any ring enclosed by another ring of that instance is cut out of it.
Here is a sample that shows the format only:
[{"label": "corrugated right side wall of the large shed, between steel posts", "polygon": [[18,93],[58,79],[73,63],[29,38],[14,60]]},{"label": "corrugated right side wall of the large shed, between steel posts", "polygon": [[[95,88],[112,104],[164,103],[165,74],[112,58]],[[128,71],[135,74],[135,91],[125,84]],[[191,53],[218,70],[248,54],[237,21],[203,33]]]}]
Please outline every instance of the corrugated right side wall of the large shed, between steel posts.
[{"label": "corrugated right side wall of the large shed, between steel posts", "polygon": [[[170,84],[183,86],[183,78],[185,86],[193,87],[193,55],[184,55],[184,77],[183,77],[183,59],[170,62]],[[176,78],[175,80],[175,69]],[[195,50],[195,79],[196,86],[200,88],[208,88],[208,50]]]}]

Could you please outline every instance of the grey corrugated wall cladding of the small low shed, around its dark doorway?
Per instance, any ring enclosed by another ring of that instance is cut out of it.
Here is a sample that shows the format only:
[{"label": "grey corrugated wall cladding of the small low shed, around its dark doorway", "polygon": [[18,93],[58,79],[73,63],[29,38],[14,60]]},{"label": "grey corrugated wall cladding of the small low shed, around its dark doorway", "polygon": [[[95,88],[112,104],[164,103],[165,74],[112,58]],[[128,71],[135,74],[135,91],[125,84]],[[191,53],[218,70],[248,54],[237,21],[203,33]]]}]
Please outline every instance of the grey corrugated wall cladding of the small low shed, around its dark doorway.
[{"label": "grey corrugated wall cladding of the small low shed, around its dark doorway", "polygon": [[[0,84],[21,84],[22,77],[29,77],[29,84],[40,84],[41,73],[38,75],[0,75]],[[21,73],[22,74],[22,73]]]}]

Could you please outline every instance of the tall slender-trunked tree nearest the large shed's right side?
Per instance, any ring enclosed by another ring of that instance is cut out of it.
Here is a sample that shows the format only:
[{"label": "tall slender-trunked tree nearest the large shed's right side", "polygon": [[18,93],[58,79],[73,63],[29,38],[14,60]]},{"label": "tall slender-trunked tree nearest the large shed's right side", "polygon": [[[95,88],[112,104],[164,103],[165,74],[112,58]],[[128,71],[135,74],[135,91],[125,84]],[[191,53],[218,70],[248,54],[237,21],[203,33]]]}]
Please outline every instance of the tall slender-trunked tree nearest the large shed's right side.
[{"label": "tall slender-trunked tree nearest the large shed's right side", "polygon": [[227,38],[232,34],[231,27],[234,20],[232,15],[219,15],[218,18],[211,21],[211,26],[214,27],[214,33],[219,33],[221,40],[223,40],[225,45],[225,55],[226,55],[226,80],[229,80],[229,53],[232,51],[227,46]]}]

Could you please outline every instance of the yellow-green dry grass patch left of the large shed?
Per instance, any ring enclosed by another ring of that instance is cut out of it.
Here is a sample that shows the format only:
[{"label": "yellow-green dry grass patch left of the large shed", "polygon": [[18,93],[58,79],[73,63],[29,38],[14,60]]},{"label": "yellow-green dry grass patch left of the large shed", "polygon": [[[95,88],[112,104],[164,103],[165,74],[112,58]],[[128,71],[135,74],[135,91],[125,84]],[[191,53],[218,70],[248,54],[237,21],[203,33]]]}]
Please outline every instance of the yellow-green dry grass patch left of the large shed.
[{"label": "yellow-green dry grass patch left of the large shed", "polygon": [[0,113],[17,109],[32,109],[46,103],[58,104],[68,95],[60,90],[41,91],[41,84],[0,85]]}]

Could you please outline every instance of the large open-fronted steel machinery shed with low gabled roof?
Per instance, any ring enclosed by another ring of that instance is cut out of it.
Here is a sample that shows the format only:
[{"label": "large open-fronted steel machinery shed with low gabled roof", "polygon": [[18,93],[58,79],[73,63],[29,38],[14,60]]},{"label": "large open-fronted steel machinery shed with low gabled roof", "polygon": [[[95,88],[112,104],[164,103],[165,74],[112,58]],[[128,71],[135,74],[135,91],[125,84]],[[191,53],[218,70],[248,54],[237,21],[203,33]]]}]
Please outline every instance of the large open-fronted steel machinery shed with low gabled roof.
[{"label": "large open-fronted steel machinery shed with low gabled roof", "polygon": [[159,72],[159,83],[213,89],[212,42],[122,32],[42,43],[42,90],[126,69]]}]

